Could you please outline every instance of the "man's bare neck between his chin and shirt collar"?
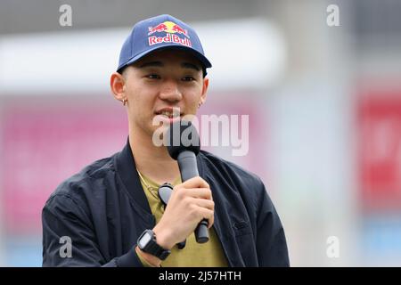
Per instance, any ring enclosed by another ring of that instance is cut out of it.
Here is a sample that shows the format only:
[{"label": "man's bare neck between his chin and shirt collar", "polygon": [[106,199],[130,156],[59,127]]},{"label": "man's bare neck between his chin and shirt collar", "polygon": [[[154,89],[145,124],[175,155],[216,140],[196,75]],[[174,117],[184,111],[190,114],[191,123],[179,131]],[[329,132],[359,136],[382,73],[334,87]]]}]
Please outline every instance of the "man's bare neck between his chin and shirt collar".
[{"label": "man's bare neck between his chin and shirt collar", "polygon": [[129,145],[135,167],[155,183],[173,183],[180,175],[178,163],[164,146],[155,146],[150,136],[129,132]]}]

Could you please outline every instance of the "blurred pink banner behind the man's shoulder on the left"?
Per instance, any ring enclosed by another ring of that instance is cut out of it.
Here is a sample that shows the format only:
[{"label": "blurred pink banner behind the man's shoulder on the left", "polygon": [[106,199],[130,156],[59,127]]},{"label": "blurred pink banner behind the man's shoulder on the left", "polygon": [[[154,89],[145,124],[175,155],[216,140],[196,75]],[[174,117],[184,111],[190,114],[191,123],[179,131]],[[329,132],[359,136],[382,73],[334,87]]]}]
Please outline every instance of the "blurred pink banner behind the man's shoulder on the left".
[{"label": "blurred pink banner behind the man's shoulder on the left", "polygon": [[42,208],[57,185],[126,143],[127,115],[117,103],[56,103],[4,106],[0,185],[8,232],[40,232]]}]

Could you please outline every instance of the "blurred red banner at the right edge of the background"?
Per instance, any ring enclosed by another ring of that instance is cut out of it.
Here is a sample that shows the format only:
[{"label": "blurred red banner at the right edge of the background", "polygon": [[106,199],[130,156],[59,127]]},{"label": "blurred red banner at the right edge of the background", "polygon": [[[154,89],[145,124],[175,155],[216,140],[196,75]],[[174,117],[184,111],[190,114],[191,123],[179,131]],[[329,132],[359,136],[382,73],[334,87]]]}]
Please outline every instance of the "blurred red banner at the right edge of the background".
[{"label": "blurred red banner at the right edge of the background", "polygon": [[358,150],[364,206],[401,208],[401,88],[359,100]]}]

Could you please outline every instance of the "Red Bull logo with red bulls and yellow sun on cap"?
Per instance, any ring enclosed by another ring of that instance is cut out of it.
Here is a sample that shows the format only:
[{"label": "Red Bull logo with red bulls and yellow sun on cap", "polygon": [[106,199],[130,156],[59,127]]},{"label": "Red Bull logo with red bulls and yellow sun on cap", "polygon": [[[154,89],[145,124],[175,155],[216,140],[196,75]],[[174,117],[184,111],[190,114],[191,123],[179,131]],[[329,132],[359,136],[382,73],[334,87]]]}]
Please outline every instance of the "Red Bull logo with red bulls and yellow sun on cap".
[{"label": "Red Bull logo with red bulls and yellow sun on cap", "polygon": [[[186,46],[192,46],[191,41],[189,40],[188,30],[181,28],[175,22],[170,20],[164,21],[157,26],[149,27],[148,36],[151,36],[154,33],[166,32],[166,37],[149,37],[149,45],[157,45],[160,43],[176,43]],[[178,35],[184,35],[185,37],[178,37]]]}]

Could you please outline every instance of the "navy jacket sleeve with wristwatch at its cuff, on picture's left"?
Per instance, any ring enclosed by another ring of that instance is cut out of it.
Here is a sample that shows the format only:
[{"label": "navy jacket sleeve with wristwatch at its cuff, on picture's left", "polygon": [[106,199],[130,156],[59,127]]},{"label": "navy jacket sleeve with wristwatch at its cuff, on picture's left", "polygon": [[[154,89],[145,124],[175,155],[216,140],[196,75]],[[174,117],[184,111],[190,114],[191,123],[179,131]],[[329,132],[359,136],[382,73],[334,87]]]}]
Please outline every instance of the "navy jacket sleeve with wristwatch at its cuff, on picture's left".
[{"label": "navy jacket sleeve with wristwatch at its cuff, on picture's left", "polygon": [[67,194],[54,194],[42,211],[43,266],[143,266],[135,246],[106,260],[97,244],[91,219]]}]

